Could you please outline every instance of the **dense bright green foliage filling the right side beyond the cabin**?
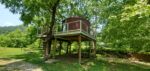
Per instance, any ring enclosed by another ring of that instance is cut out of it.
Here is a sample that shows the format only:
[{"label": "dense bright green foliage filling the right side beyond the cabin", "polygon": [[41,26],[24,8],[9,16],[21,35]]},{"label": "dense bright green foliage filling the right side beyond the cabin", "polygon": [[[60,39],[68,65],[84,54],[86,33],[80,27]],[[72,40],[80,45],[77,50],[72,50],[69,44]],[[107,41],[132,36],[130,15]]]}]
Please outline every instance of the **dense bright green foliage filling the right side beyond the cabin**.
[{"label": "dense bright green foliage filling the right side beyond the cabin", "polygon": [[105,6],[109,5],[112,6],[102,9],[101,14],[107,19],[102,33],[104,42],[113,48],[150,51],[150,6],[147,1],[124,0],[110,2]]}]

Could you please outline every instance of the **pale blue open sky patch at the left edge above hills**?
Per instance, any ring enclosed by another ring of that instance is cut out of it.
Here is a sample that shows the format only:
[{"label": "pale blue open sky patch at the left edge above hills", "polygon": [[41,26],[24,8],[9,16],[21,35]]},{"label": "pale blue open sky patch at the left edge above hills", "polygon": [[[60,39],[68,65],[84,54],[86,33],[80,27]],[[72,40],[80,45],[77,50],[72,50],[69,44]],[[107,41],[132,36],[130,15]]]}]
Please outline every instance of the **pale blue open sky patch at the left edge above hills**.
[{"label": "pale blue open sky patch at the left edge above hills", "polygon": [[16,26],[22,24],[19,14],[13,14],[4,5],[0,4],[0,26]]}]

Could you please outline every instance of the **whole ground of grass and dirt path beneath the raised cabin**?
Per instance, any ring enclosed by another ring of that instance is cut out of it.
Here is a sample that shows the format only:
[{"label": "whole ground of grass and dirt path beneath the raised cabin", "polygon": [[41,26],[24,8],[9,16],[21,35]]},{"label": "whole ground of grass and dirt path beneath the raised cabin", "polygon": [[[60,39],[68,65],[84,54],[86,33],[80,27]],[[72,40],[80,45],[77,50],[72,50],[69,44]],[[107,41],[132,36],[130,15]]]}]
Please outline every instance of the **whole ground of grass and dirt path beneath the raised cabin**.
[{"label": "whole ground of grass and dirt path beneath the raised cabin", "polygon": [[44,62],[39,52],[27,52],[20,48],[0,48],[0,71],[150,71],[150,63],[133,59],[104,57],[77,58],[62,56]]}]

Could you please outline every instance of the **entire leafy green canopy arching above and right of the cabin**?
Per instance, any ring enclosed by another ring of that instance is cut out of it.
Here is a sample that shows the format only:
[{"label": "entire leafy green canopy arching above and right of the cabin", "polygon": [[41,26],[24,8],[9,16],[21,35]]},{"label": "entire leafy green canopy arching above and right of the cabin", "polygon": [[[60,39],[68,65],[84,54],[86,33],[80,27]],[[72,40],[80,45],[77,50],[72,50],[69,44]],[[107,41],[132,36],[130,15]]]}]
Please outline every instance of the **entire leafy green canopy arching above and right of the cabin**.
[{"label": "entire leafy green canopy arching above and right of the cabin", "polygon": [[63,19],[83,16],[97,29],[97,41],[112,48],[150,50],[149,0],[0,0],[0,3],[21,14],[25,25],[48,28],[51,33],[47,35]]}]

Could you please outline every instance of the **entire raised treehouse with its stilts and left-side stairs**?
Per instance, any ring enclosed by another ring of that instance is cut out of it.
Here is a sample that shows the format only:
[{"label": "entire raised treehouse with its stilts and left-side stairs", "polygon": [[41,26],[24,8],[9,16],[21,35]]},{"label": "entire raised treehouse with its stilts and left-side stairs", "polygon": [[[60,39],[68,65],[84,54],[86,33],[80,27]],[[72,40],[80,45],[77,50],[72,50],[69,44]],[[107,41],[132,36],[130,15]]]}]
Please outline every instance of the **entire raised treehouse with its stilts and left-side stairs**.
[{"label": "entire raised treehouse with its stilts and left-side stairs", "polygon": [[[46,26],[43,27],[43,33],[40,35],[40,38],[46,39],[46,35],[44,35],[44,32],[47,32]],[[69,17],[65,20],[63,20],[62,24],[55,25],[55,30],[53,31],[54,35],[54,44],[52,48],[45,47],[44,48],[44,57],[47,57],[49,55],[49,50],[55,52],[55,49],[59,49],[59,54],[61,54],[62,49],[62,42],[67,42],[67,50],[66,53],[71,51],[71,43],[72,42],[78,42],[78,57],[79,57],[79,63],[81,62],[81,42],[82,41],[89,41],[93,42],[93,45],[90,47],[92,48],[92,54],[95,55],[96,52],[96,38],[95,33],[93,32],[91,28],[91,24],[88,20],[82,18],[82,17]],[[59,43],[57,42],[59,41]],[[43,41],[44,42],[44,41]],[[58,44],[59,46],[58,46]],[[44,47],[44,43],[43,43]],[[69,50],[70,49],[70,50]],[[69,50],[69,51],[68,51]]]}]

